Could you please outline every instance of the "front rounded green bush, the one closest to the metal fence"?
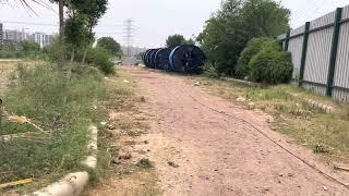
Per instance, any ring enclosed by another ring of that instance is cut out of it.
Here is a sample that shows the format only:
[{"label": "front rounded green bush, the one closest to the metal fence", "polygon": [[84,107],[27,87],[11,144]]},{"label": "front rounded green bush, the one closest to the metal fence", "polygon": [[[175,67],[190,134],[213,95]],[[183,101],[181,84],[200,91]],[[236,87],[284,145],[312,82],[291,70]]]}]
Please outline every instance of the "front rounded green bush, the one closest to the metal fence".
[{"label": "front rounded green bush, the one closest to the metal fence", "polygon": [[286,83],[293,72],[291,53],[276,50],[274,47],[264,47],[251,59],[249,66],[250,79],[263,84]]}]

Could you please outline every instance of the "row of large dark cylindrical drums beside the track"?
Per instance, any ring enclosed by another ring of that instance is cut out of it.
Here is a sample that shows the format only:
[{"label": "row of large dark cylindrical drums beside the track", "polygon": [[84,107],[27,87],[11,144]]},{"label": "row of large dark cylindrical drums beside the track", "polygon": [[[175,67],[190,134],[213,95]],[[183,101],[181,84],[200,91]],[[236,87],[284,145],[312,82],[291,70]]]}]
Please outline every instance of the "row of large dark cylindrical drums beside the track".
[{"label": "row of large dark cylindrical drums beside the track", "polygon": [[143,53],[142,60],[151,69],[200,74],[203,72],[206,56],[194,45],[180,45],[148,49]]}]

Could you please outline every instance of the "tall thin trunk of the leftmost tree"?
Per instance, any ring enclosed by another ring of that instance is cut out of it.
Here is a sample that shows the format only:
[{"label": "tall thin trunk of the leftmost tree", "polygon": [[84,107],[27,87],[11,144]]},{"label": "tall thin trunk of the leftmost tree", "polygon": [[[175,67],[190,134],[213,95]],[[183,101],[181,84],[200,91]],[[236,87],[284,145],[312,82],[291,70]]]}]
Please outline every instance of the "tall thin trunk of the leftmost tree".
[{"label": "tall thin trunk of the leftmost tree", "polygon": [[64,0],[59,0],[59,49],[58,49],[58,69],[64,65]]}]

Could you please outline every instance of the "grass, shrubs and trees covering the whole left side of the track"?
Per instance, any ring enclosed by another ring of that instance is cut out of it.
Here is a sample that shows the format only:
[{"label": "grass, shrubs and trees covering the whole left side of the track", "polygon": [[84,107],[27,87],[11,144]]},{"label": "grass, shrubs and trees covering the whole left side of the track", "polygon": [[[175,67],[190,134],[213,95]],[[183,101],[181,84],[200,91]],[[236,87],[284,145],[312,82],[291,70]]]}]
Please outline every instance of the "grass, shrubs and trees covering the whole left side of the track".
[{"label": "grass, shrubs and trees covering the whole left side of the track", "polygon": [[[13,63],[13,72],[2,74],[0,81],[4,84],[0,184],[34,181],[15,187],[20,193],[39,189],[69,172],[87,170],[93,179],[99,175],[82,161],[89,152],[88,126],[106,121],[105,77],[116,74],[112,59],[121,49],[111,52],[107,44],[93,47],[94,26],[106,12],[107,0],[57,2],[65,7],[67,25],[51,45],[40,48],[24,41],[19,50],[0,49],[0,59],[11,58],[1,61]],[[27,66],[23,61],[33,63]],[[0,195],[5,191],[0,188]]]}]

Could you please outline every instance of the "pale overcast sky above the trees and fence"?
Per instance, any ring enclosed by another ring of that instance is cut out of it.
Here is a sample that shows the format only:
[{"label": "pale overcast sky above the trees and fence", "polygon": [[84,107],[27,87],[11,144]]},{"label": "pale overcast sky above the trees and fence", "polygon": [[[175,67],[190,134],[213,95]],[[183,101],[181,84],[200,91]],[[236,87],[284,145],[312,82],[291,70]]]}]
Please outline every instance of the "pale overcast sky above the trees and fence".
[{"label": "pale overcast sky above the trees and fence", "polygon": [[[52,10],[33,4],[38,15],[35,15],[16,3],[0,3],[0,22],[4,28],[26,32],[57,32],[57,5]],[[123,21],[134,20],[134,46],[159,47],[166,37],[178,33],[186,38],[197,35],[203,29],[204,22],[209,19],[220,4],[220,0],[109,0],[109,9],[96,28],[97,36],[112,36],[123,44]],[[334,11],[337,7],[349,4],[348,0],[281,0],[281,4],[292,11],[291,26],[298,27],[306,21],[320,17]],[[7,22],[24,22],[31,24],[14,24]],[[37,24],[33,24],[37,23]],[[39,24],[40,25],[39,25]]]}]

